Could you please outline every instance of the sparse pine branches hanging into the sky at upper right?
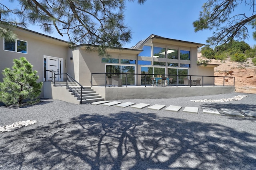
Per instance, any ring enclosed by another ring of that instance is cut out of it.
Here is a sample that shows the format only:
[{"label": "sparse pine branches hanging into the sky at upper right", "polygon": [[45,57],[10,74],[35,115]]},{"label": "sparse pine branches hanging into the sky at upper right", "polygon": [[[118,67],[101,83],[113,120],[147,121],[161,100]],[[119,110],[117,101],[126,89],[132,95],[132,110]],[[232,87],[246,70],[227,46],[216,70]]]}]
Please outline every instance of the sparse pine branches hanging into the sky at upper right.
[{"label": "sparse pine branches hanging into the sky at upper right", "polygon": [[[245,6],[248,13],[235,14],[238,6]],[[213,36],[206,41],[218,46],[234,40],[244,40],[249,37],[248,26],[256,28],[256,4],[254,0],[208,0],[200,12],[199,19],[193,22],[195,32],[212,30]],[[253,33],[256,40],[256,32]]]}]

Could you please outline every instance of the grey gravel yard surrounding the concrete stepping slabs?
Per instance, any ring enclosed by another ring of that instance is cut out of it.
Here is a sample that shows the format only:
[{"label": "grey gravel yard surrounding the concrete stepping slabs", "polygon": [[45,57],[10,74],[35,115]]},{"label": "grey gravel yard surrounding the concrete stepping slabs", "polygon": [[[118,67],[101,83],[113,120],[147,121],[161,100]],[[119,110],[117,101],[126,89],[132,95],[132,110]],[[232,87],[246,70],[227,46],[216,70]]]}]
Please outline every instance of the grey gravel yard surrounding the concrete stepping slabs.
[{"label": "grey gravel yard surrounding the concrete stepping slabs", "polygon": [[[197,103],[248,95],[240,101]],[[20,108],[0,107],[0,126],[37,124],[0,134],[0,169],[256,169],[256,118],[204,114],[256,108],[256,94],[129,99],[120,102],[181,106],[178,112],[74,105],[42,99]],[[182,112],[199,107],[198,114]]]}]

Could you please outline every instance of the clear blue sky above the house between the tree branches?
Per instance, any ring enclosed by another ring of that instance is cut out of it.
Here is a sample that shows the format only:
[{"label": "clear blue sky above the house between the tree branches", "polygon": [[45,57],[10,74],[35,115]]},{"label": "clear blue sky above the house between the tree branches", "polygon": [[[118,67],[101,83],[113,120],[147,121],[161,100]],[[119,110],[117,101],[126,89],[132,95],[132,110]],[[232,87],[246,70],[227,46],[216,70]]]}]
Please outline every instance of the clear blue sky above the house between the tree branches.
[{"label": "clear blue sky above the house between the tree branches", "polygon": [[[10,4],[7,0],[0,1],[10,6],[16,4]],[[132,29],[132,40],[124,47],[130,48],[151,34],[204,44],[207,38],[212,36],[214,30],[203,30],[195,33],[192,24],[198,19],[202,5],[207,0],[147,0],[143,5],[139,5],[136,1],[126,2],[125,23]],[[252,15],[252,11],[249,11],[249,7],[245,7],[244,4],[235,12]],[[28,29],[46,34],[36,26],[28,26]],[[251,28],[249,28],[249,32],[250,38],[244,41],[252,47],[256,42],[252,38]],[[58,33],[48,35],[68,41],[67,38],[61,37]]]}]

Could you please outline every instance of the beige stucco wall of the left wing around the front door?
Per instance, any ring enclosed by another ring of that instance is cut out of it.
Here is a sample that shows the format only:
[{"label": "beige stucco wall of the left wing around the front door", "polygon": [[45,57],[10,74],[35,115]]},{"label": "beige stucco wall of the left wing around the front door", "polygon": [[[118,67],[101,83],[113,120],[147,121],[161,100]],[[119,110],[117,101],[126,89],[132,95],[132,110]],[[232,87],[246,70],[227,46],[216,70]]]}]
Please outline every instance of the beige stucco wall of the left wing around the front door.
[{"label": "beige stucco wall of the left wing around the front door", "polygon": [[[26,59],[34,66],[33,69],[38,71],[39,79],[38,82],[44,81],[44,55],[52,57],[60,57],[66,60],[64,65],[64,73],[68,71],[68,65],[71,65],[68,55],[70,55],[70,49],[68,44],[59,42],[58,40],[51,40],[42,35],[38,35],[25,30],[17,30],[19,40],[27,42],[28,53],[17,53],[12,51],[4,51],[4,40],[0,39],[0,81],[2,81],[2,70],[6,67],[13,66],[13,59],[19,59],[20,57],[26,57]],[[43,97],[43,88],[42,94]]]}]

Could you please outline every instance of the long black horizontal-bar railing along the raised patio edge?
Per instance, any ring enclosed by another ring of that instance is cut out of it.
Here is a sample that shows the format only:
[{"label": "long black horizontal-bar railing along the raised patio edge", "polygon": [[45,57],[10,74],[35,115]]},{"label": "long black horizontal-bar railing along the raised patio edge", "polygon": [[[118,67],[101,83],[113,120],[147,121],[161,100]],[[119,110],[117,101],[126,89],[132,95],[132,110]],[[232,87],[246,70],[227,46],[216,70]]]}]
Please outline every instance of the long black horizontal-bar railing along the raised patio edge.
[{"label": "long black horizontal-bar railing along the raised patio edge", "polygon": [[[200,85],[223,85],[234,86],[235,77],[230,76],[207,76],[207,75],[159,75],[159,74],[135,74],[135,73],[92,73],[91,74],[91,86],[150,86],[152,85],[152,77],[168,77],[172,78],[172,81],[168,85],[171,86],[193,86],[196,84],[196,79],[200,79]],[[188,83],[184,83],[184,78],[188,79]],[[211,84],[206,84],[212,82]],[[163,83],[160,83],[163,86]],[[166,85],[166,84],[164,84]]]}]

